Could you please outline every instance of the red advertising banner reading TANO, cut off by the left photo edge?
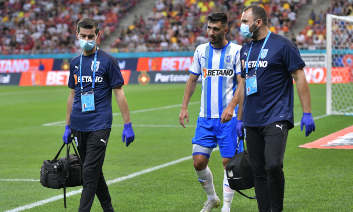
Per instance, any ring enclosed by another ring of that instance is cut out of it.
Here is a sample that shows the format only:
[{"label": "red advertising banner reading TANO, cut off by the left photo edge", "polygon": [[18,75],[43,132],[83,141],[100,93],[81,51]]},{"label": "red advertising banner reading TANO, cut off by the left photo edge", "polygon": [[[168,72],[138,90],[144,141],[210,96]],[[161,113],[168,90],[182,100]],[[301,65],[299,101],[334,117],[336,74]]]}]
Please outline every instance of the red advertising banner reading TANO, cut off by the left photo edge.
[{"label": "red advertising banner reading TANO, cut off by the left photo edge", "polygon": [[21,73],[38,71],[39,62],[44,65],[44,71],[51,71],[54,59],[6,59],[0,60],[0,73]]}]

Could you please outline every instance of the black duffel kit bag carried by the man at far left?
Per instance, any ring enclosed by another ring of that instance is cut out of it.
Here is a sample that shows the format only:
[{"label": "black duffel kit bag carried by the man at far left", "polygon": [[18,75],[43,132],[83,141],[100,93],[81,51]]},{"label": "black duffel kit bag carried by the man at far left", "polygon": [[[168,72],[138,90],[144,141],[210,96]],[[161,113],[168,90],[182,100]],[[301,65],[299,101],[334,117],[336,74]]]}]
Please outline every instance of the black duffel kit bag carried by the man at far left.
[{"label": "black duffel kit bag carried by the man at far left", "polygon": [[[75,154],[70,154],[70,146],[73,146]],[[66,156],[58,158],[66,145]],[[40,169],[40,184],[47,188],[64,188],[64,206],[66,208],[66,188],[82,185],[82,161],[76,151],[75,145],[70,139],[64,143],[53,160],[43,161]]]}]

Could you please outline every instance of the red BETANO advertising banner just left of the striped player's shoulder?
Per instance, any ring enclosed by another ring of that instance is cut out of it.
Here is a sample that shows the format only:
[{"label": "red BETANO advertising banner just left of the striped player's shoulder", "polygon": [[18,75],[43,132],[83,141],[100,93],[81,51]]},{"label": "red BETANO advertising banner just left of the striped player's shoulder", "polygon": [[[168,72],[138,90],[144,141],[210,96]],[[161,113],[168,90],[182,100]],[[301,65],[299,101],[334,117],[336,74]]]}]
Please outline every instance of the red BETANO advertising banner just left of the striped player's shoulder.
[{"label": "red BETANO advertising banner just left of the striped player's shoulder", "polygon": [[189,71],[193,57],[139,58],[137,71]]}]

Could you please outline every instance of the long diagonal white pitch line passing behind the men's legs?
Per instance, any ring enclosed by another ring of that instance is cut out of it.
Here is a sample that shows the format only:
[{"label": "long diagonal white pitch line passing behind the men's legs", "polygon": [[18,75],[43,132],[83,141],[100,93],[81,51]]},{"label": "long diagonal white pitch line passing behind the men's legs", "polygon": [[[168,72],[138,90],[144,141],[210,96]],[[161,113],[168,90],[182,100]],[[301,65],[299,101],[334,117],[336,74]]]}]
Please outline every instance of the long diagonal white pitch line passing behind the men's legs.
[{"label": "long diagonal white pitch line passing behind the men's legs", "polygon": [[[217,151],[217,150],[219,150],[218,147],[213,149],[213,151]],[[137,177],[139,175],[143,175],[143,174],[146,174],[146,173],[149,173],[149,172],[153,172],[153,171],[158,170],[158,169],[162,169],[162,168],[174,165],[174,164],[181,163],[183,161],[190,160],[192,158],[193,158],[192,155],[187,156],[187,157],[183,157],[183,158],[180,158],[179,160],[176,160],[176,161],[172,161],[172,162],[169,162],[169,163],[166,163],[166,164],[162,164],[162,165],[155,166],[155,167],[152,167],[152,168],[149,168],[149,169],[145,169],[145,170],[142,170],[140,172],[135,172],[133,174],[130,174],[130,175],[127,175],[127,176],[124,176],[124,177],[120,177],[120,178],[115,178],[113,180],[109,180],[109,181],[106,182],[106,184],[110,185],[110,184],[113,184],[113,183],[117,183],[117,182],[121,182],[121,181],[124,181],[124,180],[128,180],[128,179],[131,179],[133,177]],[[81,192],[82,192],[82,188],[79,189],[79,190],[70,191],[70,192],[66,193],[66,197],[69,197],[69,196],[72,196],[72,195],[75,195],[75,194],[79,194]],[[25,210],[25,209],[30,209],[32,207],[43,205],[43,204],[46,204],[46,203],[49,203],[49,202],[53,202],[53,201],[56,201],[58,199],[63,199],[63,198],[64,198],[64,194],[57,195],[57,196],[53,196],[53,197],[48,198],[48,199],[43,199],[43,200],[34,202],[32,204],[27,204],[27,205],[24,205],[24,206],[21,206],[21,207],[16,207],[16,208],[11,209],[11,210],[6,210],[5,212],[17,212],[17,211],[21,211],[21,210]]]}]

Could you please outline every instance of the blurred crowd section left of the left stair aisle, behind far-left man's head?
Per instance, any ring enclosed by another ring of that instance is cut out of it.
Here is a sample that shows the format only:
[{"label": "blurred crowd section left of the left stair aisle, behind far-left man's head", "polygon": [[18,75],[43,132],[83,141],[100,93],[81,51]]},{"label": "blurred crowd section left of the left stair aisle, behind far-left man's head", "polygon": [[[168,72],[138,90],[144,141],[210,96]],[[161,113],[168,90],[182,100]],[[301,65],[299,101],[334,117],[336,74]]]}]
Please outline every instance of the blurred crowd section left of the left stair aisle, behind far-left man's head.
[{"label": "blurred crowd section left of the left stair aisle, behind far-left man's head", "polygon": [[139,0],[8,0],[0,1],[1,54],[79,52],[75,32],[83,17],[93,17],[109,36],[119,19]]}]

